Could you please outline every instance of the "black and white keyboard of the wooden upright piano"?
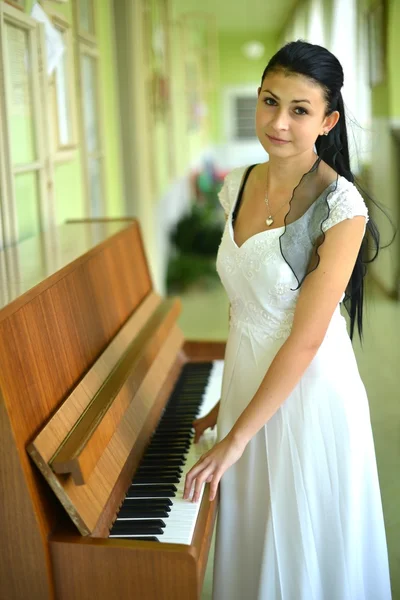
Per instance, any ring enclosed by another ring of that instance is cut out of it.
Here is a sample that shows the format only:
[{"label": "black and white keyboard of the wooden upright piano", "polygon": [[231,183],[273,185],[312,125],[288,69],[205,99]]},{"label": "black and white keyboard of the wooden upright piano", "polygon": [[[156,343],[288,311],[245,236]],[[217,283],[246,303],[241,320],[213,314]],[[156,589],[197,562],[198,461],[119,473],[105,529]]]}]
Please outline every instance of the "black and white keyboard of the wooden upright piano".
[{"label": "black and white keyboard of the wooden upright piano", "polygon": [[204,486],[198,502],[183,500],[187,472],[215,443],[206,430],[193,443],[192,421],[206,415],[221,394],[224,363],[188,363],[166,405],[158,427],[138,466],[110,538],[174,544],[192,542]]}]

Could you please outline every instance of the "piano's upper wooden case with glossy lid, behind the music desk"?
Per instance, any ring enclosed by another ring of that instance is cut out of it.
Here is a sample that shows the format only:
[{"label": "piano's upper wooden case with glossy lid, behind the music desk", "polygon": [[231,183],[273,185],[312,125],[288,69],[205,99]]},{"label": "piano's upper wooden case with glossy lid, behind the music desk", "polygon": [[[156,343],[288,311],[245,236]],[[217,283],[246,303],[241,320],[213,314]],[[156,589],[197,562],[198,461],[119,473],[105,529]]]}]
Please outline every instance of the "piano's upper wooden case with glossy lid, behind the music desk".
[{"label": "piano's upper wooden case with glossy lid, behind the music desk", "polygon": [[26,446],[152,282],[132,220],[63,225],[0,254],[0,598],[42,600],[53,596],[47,539],[63,511]]}]

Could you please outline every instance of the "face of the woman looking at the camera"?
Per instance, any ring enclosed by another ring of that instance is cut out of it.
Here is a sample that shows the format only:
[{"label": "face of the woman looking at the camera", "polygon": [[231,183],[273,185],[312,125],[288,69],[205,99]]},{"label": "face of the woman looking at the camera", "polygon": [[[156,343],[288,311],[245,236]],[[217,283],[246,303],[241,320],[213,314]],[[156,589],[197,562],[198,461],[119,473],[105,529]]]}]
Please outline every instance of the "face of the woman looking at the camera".
[{"label": "face of the woman looking at the camera", "polygon": [[313,151],[317,137],[339,120],[337,111],[329,117],[325,111],[321,86],[302,75],[270,73],[258,89],[257,137],[268,154],[277,157]]}]

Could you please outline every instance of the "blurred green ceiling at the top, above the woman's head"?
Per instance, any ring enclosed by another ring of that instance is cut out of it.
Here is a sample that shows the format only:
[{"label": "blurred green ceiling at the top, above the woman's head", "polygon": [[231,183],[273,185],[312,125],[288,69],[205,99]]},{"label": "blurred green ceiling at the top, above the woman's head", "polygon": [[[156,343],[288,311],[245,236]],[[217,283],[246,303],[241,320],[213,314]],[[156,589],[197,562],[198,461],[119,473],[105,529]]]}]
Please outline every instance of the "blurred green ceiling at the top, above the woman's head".
[{"label": "blurred green ceiling at the top, above the woman's head", "polygon": [[221,32],[274,32],[284,27],[298,0],[173,0],[173,16],[213,13]]}]

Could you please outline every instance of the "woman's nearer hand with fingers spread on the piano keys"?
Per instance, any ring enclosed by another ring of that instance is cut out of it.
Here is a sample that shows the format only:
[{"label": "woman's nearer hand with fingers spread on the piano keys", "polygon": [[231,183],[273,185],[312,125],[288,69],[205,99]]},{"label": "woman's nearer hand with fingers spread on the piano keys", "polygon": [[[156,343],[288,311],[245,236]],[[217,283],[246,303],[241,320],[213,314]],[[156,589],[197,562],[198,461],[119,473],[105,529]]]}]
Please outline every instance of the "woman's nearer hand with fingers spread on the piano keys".
[{"label": "woman's nearer hand with fingers spread on the piano keys", "polygon": [[222,475],[239,460],[245,447],[245,445],[230,437],[229,434],[218,444],[215,444],[211,450],[203,454],[186,474],[183,498],[185,500],[189,498],[194,483],[192,502],[197,502],[202,485],[211,483],[210,500],[214,500]]}]

